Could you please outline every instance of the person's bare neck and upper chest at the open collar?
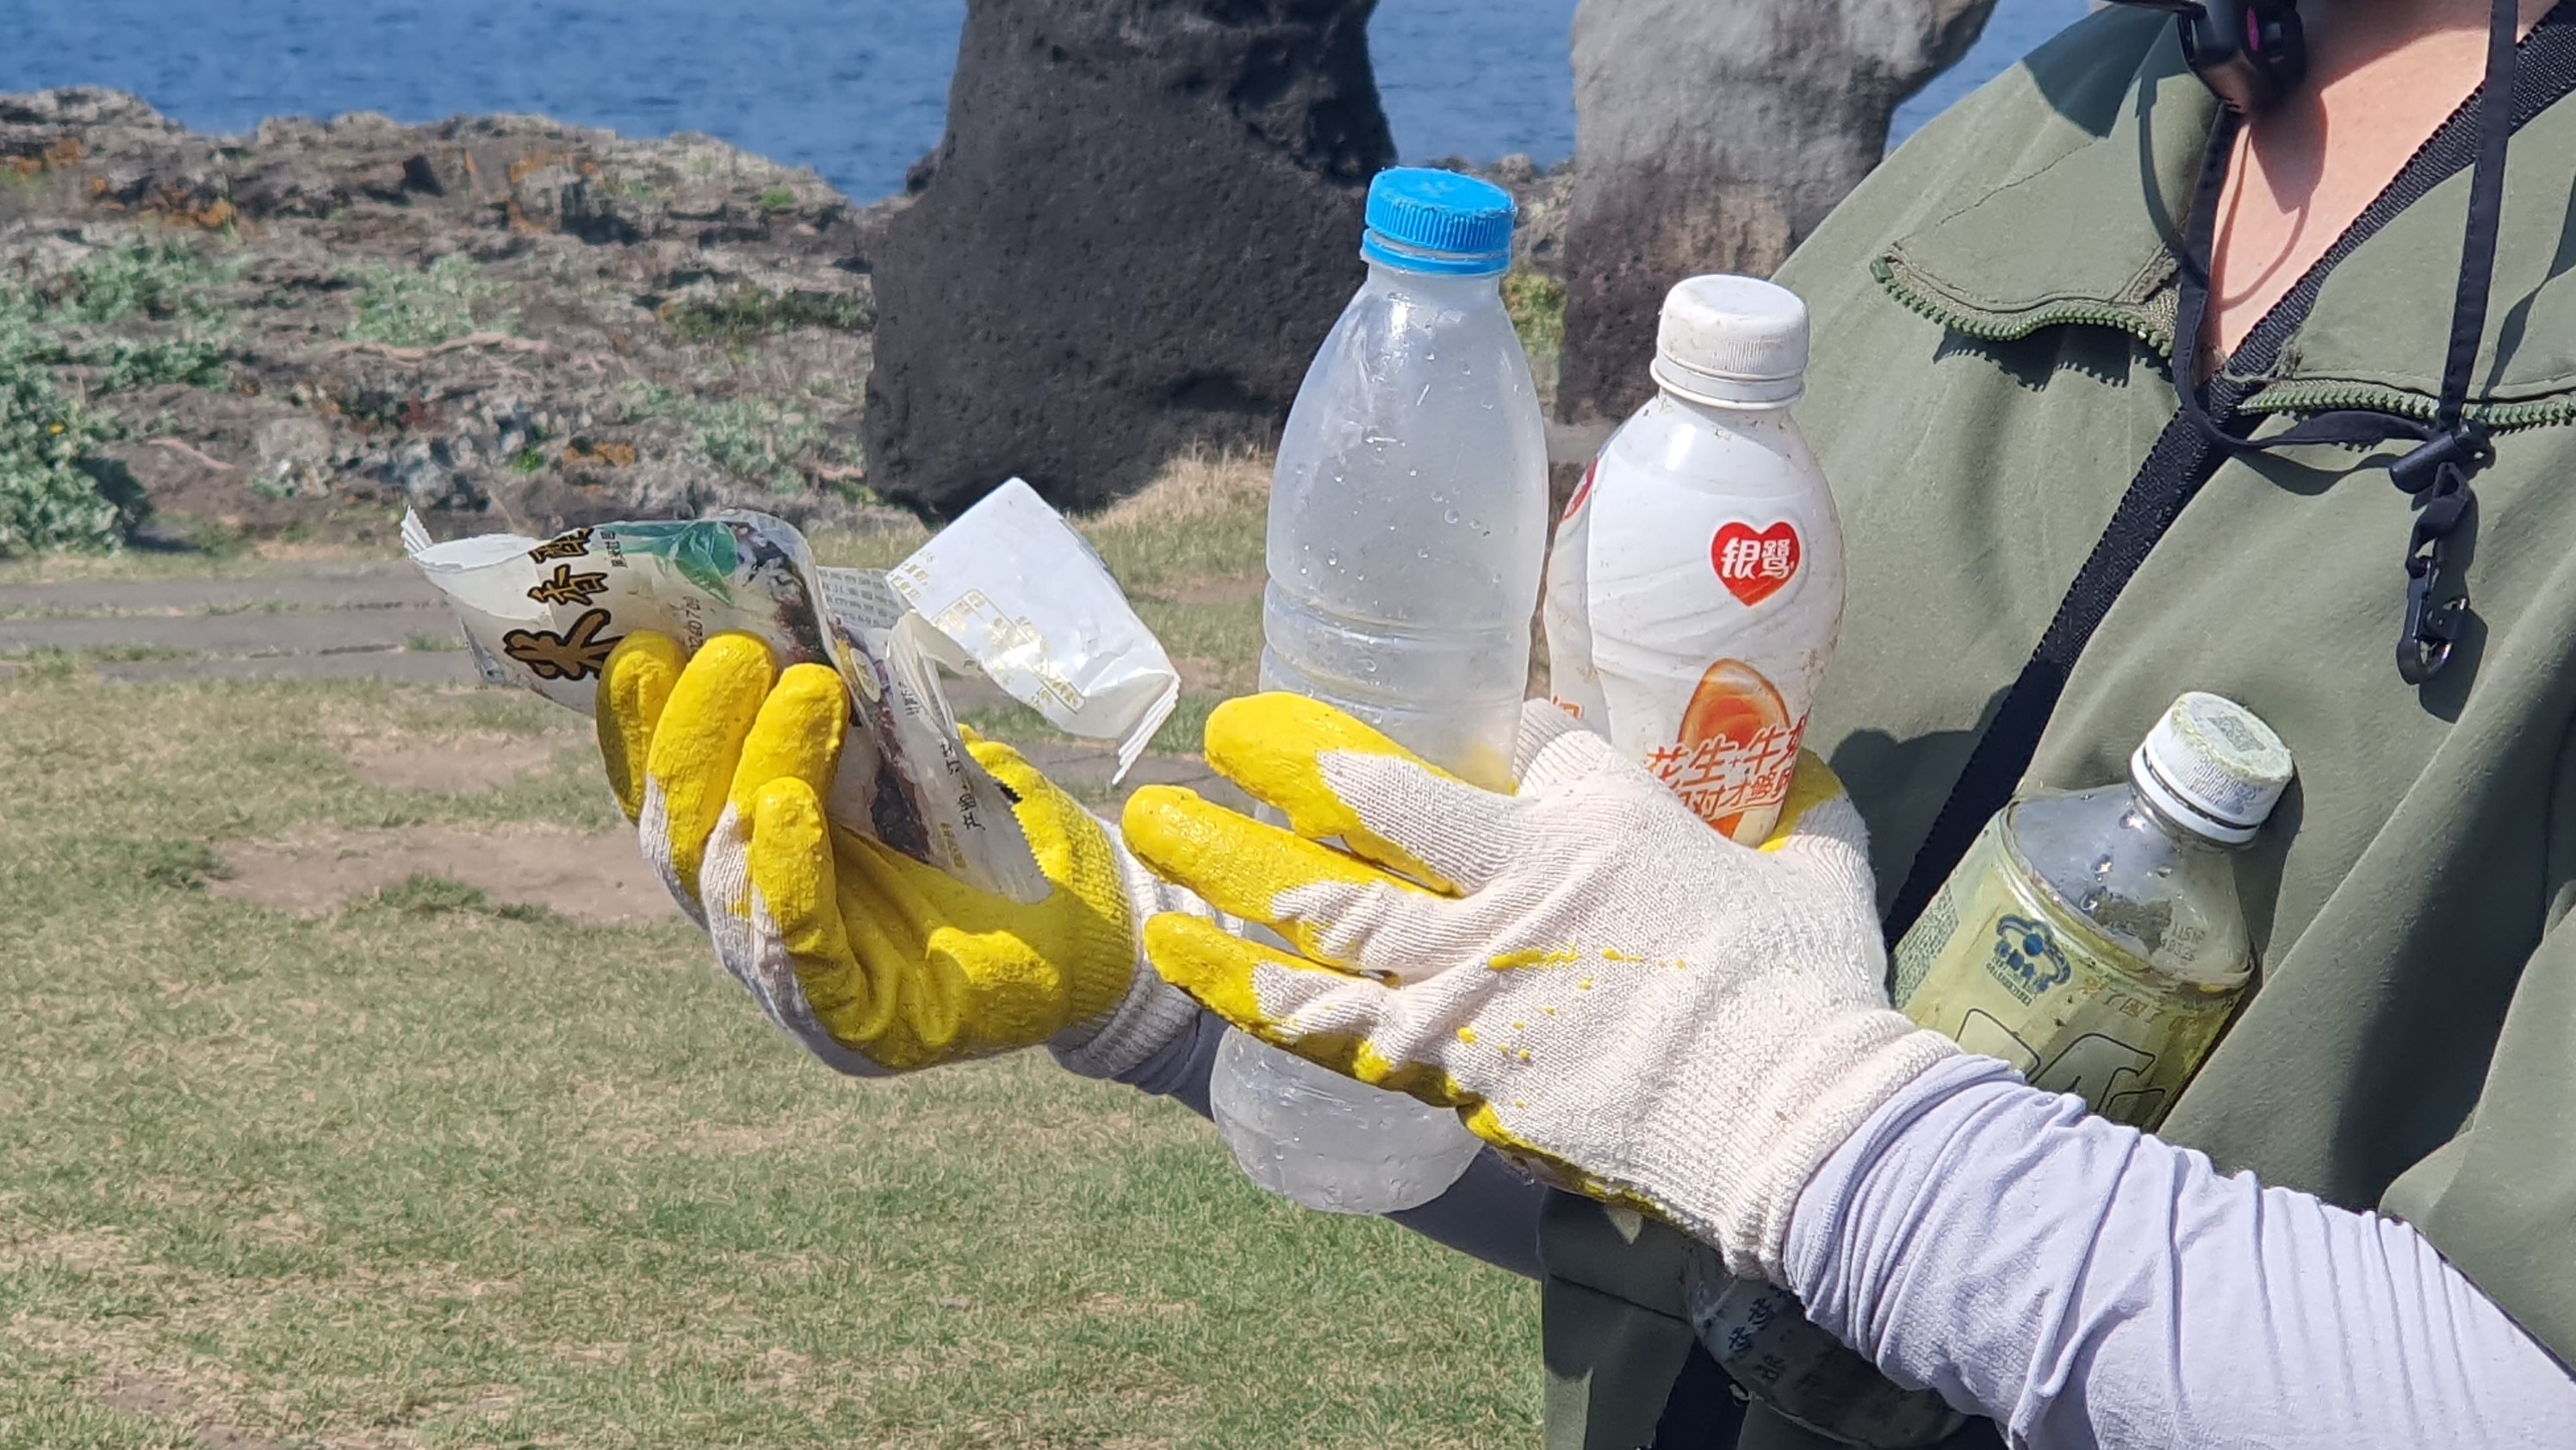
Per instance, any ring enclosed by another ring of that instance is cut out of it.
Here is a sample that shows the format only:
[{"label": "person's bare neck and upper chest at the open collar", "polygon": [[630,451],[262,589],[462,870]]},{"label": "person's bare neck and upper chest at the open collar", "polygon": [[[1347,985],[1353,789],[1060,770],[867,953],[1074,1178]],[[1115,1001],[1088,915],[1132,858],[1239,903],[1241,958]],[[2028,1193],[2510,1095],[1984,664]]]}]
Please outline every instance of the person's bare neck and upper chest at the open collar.
[{"label": "person's bare neck and upper chest at the open collar", "polygon": [[[2553,3],[2522,0],[2522,28]],[[2486,75],[2488,0],[2326,0],[2300,21],[2308,77],[2246,121],[2218,203],[2202,337],[2213,368]]]}]

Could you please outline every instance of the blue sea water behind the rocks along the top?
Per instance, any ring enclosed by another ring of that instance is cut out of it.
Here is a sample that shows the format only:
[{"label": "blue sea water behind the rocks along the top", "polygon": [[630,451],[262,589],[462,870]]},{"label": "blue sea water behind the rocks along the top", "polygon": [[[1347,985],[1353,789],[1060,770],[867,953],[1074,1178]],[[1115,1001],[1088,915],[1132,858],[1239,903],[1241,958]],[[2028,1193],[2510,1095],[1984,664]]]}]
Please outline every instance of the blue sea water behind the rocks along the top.
[{"label": "blue sea water behind the rocks along the top", "polygon": [[[1976,52],[1899,111],[1899,139],[2084,10],[2002,0]],[[940,139],[963,15],[963,0],[0,0],[0,90],[116,85],[201,131],[343,111],[706,131],[876,198]],[[1571,155],[1571,18],[1574,0],[1381,0],[1370,54],[1404,160]]]}]

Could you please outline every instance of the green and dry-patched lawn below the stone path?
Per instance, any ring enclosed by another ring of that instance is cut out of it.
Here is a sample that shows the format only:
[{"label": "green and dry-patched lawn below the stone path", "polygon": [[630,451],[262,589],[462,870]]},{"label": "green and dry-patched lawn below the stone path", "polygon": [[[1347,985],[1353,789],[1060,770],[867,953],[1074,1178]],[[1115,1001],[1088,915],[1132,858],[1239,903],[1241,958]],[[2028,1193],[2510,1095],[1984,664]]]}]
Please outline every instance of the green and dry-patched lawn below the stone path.
[{"label": "green and dry-patched lawn below the stone path", "polygon": [[567,719],[0,683],[0,1447],[1535,1442],[1528,1285],[1260,1195],[1180,1107],[837,1079],[680,922],[219,891],[322,827],[605,827],[580,749],[410,796],[332,747]]}]

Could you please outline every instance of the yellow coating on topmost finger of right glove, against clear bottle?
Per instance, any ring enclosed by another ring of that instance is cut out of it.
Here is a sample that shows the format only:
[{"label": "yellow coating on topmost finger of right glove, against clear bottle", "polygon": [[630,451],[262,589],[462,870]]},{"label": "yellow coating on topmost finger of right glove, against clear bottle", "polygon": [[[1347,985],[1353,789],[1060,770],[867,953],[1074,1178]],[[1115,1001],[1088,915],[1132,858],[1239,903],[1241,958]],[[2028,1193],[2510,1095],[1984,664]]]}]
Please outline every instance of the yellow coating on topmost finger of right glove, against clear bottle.
[{"label": "yellow coating on topmost finger of right glove, against clear bottle", "polygon": [[1288,827],[1306,840],[1340,840],[1355,855],[1401,871],[1435,891],[1455,886],[1414,852],[1381,837],[1324,780],[1327,755],[1386,755],[1412,760],[1440,778],[1448,770],[1425,762],[1376,729],[1303,695],[1244,695],[1216,706],[1208,716],[1208,765],[1244,788],[1255,801],[1278,806]]}]

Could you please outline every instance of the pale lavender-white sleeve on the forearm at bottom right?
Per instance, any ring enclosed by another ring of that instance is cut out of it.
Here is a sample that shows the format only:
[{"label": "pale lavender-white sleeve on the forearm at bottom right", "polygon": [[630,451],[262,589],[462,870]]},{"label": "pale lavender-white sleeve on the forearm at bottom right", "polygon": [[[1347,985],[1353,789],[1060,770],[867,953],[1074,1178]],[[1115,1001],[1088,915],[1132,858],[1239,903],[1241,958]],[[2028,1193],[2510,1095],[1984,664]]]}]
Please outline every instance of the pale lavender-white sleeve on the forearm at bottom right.
[{"label": "pale lavender-white sleeve on the forearm at bottom right", "polygon": [[1816,1324],[2032,1450],[2576,1445],[2568,1370],[2411,1226],[1986,1059],[1826,1162],[1788,1272]]}]

